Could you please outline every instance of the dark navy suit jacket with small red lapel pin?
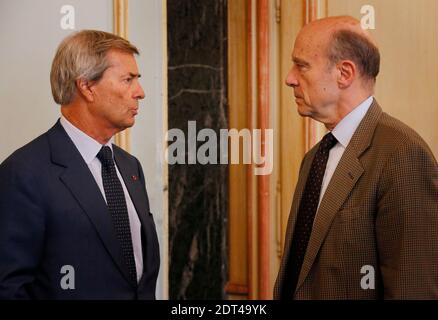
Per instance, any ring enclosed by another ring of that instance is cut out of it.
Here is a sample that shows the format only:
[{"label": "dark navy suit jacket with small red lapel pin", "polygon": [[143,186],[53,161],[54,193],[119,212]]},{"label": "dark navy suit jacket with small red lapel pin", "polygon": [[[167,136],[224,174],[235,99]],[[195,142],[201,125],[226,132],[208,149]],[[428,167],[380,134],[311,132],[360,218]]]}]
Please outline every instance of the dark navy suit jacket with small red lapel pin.
[{"label": "dark navy suit jacket with small red lapel pin", "polygon": [[[113,147],[142,225],[140,282],[129,280],[102,193],[58,121],[0,165],[1,299],[155,298],[159,249],[143,172]],[[72,276],[63,266],[74,269],[74,289],[61,285]]]}]

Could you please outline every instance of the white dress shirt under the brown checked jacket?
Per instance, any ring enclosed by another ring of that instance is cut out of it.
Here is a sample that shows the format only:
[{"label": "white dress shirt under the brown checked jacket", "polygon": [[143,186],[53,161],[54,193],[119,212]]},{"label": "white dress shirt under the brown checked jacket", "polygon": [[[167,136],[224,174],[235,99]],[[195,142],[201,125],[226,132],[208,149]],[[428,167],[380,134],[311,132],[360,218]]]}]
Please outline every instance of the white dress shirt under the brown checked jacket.
[{"label": "white dress shirt under the brown checked jacket", "polygon": [[335,144],[329,153],[327,167],[325,168],[324,178],[322,179],[318,207],[321,204],[322,197],[324,196],[327,186],[332,179],[333,173],[338,166],[339,160],[341,160],[345,149],[350,143],[351,137],[356,132],[357,127],[372,103],[373,97],[370,96],[364,102],[354,108],[349,114],[347,114],[341,121],[339,121],[336,127],[332,130],[332,134],[335,136],[336,140],[338,140],[338,143]]}]

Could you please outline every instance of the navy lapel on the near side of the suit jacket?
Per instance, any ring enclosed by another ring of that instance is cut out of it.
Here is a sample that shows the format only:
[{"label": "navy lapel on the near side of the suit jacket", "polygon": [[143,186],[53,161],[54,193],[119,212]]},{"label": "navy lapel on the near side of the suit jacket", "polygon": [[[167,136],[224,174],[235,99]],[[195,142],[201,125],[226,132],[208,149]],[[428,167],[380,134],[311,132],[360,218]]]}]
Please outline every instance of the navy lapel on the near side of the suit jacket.
[{"label": "navy lapel on the near side of the suit jacket", "polygon": [[49,130],[48,138],[52,161],[65,167],[60,175],[61,181],[88,215],[105,248],[129,281],[129,272],[123,262],[120,243],[114,233],[108,208],[90,169],[59,121]]}]

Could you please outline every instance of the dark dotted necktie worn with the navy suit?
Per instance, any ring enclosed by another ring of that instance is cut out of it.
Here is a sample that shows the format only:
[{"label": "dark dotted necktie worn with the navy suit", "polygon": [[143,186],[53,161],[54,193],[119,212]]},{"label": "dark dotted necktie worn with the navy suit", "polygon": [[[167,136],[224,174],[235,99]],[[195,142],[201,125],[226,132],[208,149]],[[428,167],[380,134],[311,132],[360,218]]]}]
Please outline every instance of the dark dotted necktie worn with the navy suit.
[{"label": "dark dotted necktie worn with the navy suit", "polygon": [[97,158],[102,163],[103,189],[105,190],[106,203],[114,224],[114,230],[121,244],[123,258],[128,266],[131,280],[137,283],[128,208],[122,184],[117,177],[111,148],[103,146],[97,154]]}]

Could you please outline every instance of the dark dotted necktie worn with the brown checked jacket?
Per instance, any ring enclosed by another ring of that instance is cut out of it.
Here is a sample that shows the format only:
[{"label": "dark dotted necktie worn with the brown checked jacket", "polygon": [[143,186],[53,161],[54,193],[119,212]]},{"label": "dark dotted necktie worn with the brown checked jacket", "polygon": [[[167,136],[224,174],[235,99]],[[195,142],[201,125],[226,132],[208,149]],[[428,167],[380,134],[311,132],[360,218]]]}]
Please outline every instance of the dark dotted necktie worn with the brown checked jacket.
[{"label": "dark dotted necktie worn with the brown checked jacket", "polygon": [[307,245],[312,232],[316,210],[318,209],[322,179],[327,166],[330,149],[333,148],[336,143],[337,140],[331,133],[326,134],[313,159],[298,209],[280,299],[292,299],[294,296],[304,261],[304,255],[306,254]]}]

